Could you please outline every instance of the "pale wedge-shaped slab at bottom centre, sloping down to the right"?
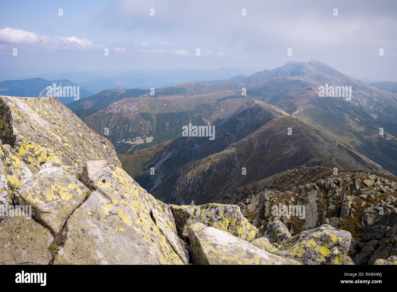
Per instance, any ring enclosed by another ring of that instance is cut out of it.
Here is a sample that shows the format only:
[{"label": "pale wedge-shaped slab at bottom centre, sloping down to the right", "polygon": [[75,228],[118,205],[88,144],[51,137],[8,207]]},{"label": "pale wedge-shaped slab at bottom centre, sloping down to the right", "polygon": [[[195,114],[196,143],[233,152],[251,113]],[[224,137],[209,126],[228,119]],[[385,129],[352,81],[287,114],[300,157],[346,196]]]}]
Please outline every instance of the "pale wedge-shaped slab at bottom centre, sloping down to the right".
[{"label": "pale wedge-shaped slab at bottom centre, sloping down to the right", "polygon": [[191,224],[188,230],[196,265],[299,265],[297,261],[273,255],[202,223]]}]

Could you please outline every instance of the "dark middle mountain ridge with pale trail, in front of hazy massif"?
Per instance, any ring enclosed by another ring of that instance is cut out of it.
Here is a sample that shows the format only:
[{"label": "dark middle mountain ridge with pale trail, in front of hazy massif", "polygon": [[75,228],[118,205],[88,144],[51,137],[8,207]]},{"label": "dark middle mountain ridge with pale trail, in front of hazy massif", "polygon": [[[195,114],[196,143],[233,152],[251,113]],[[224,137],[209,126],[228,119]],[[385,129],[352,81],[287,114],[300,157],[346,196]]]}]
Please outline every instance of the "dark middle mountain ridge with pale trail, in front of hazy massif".
[{"label": "dark middle mountain ridge with pale trail, in front of hazy massif", "polygon": [[[199,204],[298,166],[366,169],[390,175],[350,145],[262,101],[251,100],[214,122],[214,141],[179,137],[134,155],[151,157],[135,180],[162,201]],[[291,135],[288,135],[288,129]],[[125,169],[129,155],[119,155]],[[154,168],[155,175],[150,174]],[[245,169],[245,173],[243,170]]]}]

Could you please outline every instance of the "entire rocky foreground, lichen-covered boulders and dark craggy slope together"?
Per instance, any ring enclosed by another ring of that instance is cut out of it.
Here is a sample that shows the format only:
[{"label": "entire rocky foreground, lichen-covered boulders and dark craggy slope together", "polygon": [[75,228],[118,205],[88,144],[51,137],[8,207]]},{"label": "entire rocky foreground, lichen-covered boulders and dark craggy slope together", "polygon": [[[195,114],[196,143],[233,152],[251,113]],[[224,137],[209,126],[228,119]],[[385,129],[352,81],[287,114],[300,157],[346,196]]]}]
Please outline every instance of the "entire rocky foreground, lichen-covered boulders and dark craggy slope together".
[{"label": "entire rocky foreground, lichen-covered boulders and dark craggy slope together", "polygon": [[394,176],[300,166],[166,204],[58,99],[0,114],[1,264],[397,264]]}]

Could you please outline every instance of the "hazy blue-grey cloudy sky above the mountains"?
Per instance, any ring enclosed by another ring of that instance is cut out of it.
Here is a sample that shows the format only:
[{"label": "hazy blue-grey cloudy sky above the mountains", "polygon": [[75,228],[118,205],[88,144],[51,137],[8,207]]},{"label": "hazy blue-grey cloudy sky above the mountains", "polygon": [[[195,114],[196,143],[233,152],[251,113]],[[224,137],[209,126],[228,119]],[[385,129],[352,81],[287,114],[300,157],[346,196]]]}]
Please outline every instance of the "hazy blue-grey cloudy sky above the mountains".
[{"label": "hazy blue-grey cloudy sky above the mountains", "polygon": [[4,1],[0,75],[264,70],[314,59],[353,77],[397,81],[396,36],[395,0]]}]

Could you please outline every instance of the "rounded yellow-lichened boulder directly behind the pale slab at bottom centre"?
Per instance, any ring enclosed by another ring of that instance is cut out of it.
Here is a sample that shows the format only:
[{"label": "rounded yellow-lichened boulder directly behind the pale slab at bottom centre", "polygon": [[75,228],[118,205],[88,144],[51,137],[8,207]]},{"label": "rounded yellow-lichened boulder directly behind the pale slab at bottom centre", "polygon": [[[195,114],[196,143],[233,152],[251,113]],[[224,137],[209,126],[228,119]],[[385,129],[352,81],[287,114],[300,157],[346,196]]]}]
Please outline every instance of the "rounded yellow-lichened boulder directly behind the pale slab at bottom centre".
[{"label": "rounded yellow-lichened boulder directly behind the pale slab at bottom centre", "polygon": [[243,240],[251,241],[256,237],[258,229],[241,214],[236,205],[204,204],[198,207],[187,220],[183,229],[183,237],[187,238],[191,224],[202,223],[206,226],[229,232]]}]

